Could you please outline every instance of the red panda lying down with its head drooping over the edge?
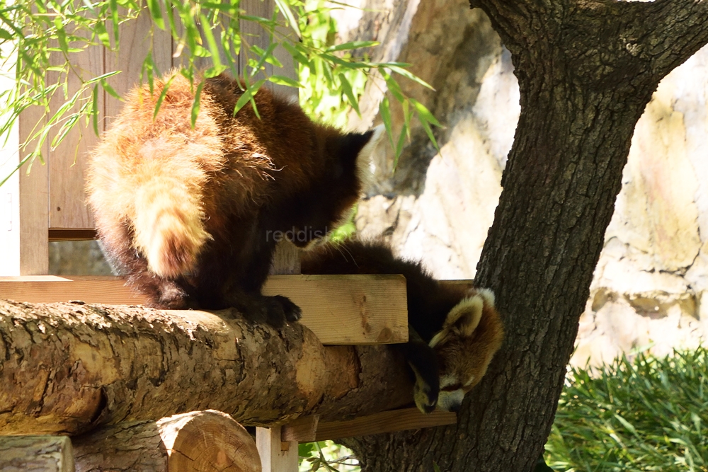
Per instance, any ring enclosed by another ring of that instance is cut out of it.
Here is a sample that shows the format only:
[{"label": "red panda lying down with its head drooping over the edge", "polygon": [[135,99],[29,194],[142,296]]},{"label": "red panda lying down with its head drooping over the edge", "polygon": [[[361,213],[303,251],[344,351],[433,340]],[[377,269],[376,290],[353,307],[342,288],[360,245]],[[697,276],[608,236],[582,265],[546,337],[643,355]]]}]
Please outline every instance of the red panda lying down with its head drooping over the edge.
[{"label": "red panda lying down with its head drooping over the edge", "polygon": [[421,263],[394,257],[373,241],[345,241],[302,253],[304,274],[403,274],[409,343],[403,352],[416,376],[413,398],[423,413],[457,410],[486,373],[504,330],[489,289],[440,284]]}]

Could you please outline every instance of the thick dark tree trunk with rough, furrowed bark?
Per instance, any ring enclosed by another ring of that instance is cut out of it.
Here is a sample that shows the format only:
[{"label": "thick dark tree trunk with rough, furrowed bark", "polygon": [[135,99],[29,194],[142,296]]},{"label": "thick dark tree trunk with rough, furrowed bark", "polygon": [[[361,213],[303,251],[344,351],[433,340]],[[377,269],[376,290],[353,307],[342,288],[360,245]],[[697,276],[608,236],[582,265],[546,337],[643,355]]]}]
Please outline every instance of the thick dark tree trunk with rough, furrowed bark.
[{"label": "thick dark tree trunk with rough, furrowed bark", "polygon": [[549,433],[621,188],[658,82],[708,42],[708,1],[471,0],[513,54],[521,115],[477,266],[506,342],[455,426],[350,439],[362,471],[532,470]]}]

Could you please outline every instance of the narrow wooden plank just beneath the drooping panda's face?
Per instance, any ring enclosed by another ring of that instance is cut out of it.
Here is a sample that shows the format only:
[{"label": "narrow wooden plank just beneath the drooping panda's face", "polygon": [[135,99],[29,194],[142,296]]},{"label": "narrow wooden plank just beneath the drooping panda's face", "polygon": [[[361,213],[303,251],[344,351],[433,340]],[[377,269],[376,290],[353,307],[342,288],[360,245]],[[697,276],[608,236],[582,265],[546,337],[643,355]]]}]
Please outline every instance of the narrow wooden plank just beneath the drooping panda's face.
[{"label": "narrow wooden plank just beneath the drooping panda's face", "polygon": [[365,434],[420,430],[425,427],[453,425],[455,422],[457,414],[454,412],[435,410],[426,414],[421,413],[418,408],[389,410],[348,421],[319,422],[314,418],[301,418],[282,427],[281,439],[298,442],[324,441]]}]

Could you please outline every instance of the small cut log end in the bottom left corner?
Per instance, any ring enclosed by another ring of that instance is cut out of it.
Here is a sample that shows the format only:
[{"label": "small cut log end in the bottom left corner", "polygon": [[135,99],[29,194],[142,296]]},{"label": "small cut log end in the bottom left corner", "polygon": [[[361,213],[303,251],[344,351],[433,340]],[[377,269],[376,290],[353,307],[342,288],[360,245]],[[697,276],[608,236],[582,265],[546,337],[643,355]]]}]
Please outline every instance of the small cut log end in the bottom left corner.
[{"label": "small cut log end in the bottom left corner", "polygon": [[0,436],[2,472],[74,472],[66,436]]}]

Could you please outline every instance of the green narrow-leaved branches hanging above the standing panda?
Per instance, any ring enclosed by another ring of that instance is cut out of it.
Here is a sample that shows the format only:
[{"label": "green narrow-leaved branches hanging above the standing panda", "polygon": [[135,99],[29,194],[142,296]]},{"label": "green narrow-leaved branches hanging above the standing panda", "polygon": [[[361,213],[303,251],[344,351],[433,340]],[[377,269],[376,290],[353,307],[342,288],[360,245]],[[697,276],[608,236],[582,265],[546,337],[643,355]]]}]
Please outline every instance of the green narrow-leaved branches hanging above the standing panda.
[{"label": "green narrow-leaved branches hanging above the standing panda", "polygon": [[[413,115],[437,147],[430,125],[440,126],[440,123],[424,105],[405,96],[396,81],[402,76],[430,88],[406,70],[408,64],[371,62],[366,56],[353,56],[353,52],[366,50],[377,42],[334,44],[333,22],[326,21],[329,7],[324,2],[274,1],[273,15],[263,18],[249,15],[239,1],[231,0],[0,0],[0,64],[4,71],[14,70],[13,86],[0,93],[0,113],[4,118],[0,122],[0,135],[7,140],[25,110],[40,110],[38,121],[21,143],[24,157],[18,168],[35,159],[44,163],[45,144],[48,142],[51,150],[57,149],[82,120],[98,134],[98,98],[105,92],[120,99],[108,79],[121,71],[92,76],[90,71],[76,66],[80,64],[76,59],[91,47],[104,47],[111,52],[120,50],[121,26],[137,21],[142,14],[149,14],[150,38],[156,30],[169,31],[176,44],[173,57],[181,58],[178,71],[195,86],[193,122],[200,108],[203,80],[229,71],[243,78],[243,94],[234,113],[247,104],[255,110],[253,96],[265,81],[270,81],[302,88],[308,113],[315,117],[336,115],[332,121],[341,126],[346,121],[343,110],[351,107],[360,113],[358,100],[363,86],[368,76],[377,73],[384,77],[389,91],[404,108],[406,122],[394,144],[391,104],[385,99],[381,105],[381,115],[396,156],[404,146],[404,137],[410,135]],[[257,25],[268,36],[267,49],[251,44],[251,37],[241,30],[244,22]],[[323,25],[324,36],[317,29]],[[279,46],[298,64],[299,80],[285,74],[266,74],[265,64],[270,64],[274,70],[282,67],[275,57]],[[241,71],[239,54],[243,54],[246,64]],[[198,58],[205,61],[197,61]],[[204,62],[209,66],[200,69],[198,64]],[[142,61],[141,81],[152,91],[155,79],[163,72],[155,62],[152,49],[148,50]],[[161,102],[158,100],[155,113]],[[325,113],[326,108],[338,111]]]}]

